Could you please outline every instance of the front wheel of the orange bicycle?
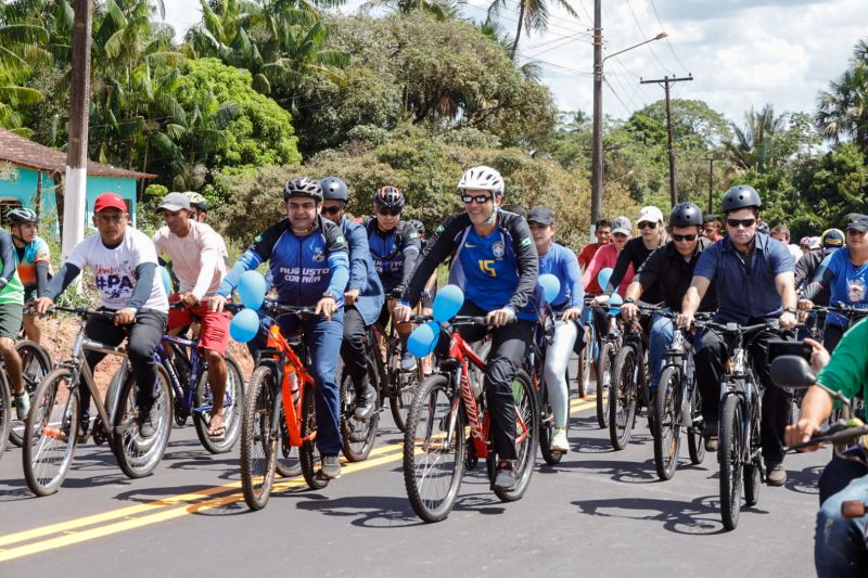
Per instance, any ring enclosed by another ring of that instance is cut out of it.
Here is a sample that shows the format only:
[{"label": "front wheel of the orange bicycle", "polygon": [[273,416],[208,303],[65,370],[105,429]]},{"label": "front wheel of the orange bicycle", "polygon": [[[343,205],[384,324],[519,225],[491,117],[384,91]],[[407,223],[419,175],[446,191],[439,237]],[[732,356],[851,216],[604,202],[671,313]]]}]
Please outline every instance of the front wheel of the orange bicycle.
[{"label": "front wheel of the orange bicycle", "polygon": [[251,510],[261,510],[271,497],[280,436],[270,432],[275,395],[280,390],[269,365],[251,375],[241,416],[241,490]]}]

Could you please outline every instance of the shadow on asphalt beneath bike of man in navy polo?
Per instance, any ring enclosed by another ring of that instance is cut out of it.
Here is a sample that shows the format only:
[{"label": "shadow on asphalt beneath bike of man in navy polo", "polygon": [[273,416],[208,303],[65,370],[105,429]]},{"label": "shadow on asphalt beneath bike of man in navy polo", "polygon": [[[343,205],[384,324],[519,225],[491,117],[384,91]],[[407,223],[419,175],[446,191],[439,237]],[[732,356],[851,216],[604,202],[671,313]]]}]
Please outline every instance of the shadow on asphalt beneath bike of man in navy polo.
[{"label": "shadow on asphalt beneath bike of man in navy polo", "polygon": [[[578,500],[571,503],[578,506],[582,514],[662,522],[666,531],[685,536],[714,536],[727,532],[720,521],[717,496],[704,496],[689,502],[654,498],[615,498]],[[742,509],[742,513],[768,514],[756,508]]]}]

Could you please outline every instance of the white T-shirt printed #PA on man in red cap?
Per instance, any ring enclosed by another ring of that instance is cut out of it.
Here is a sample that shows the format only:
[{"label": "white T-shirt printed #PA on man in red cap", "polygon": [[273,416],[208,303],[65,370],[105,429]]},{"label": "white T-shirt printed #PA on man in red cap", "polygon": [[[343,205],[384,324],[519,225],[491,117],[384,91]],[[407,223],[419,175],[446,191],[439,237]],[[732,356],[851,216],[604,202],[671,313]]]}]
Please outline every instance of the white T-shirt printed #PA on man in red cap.
[{"label": "white T-shirt printed #PA on man in red cap", "polygon": [[[82,270],[85,266],[90,267],[103,307],[114,310],[125,308],[132,297],[136,268],[143,262],[157,265],[154,244],[146,234],[132,227],[127,227],[124,241],[115,248],[103,245],[99,233],[90,235],[73,248],[66,262]],[[142,309],[168,312],[169,301],[159,274],[154,275],[151,295]]]}]

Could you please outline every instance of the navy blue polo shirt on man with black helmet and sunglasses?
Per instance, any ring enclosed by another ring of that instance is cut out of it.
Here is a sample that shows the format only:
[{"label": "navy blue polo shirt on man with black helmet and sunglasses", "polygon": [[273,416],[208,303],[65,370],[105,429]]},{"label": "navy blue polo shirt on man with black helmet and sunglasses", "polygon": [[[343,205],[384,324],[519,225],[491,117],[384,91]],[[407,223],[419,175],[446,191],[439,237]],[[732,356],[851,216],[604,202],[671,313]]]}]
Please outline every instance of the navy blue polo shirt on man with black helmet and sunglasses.
[{"label": "navy blue polo shirt on man with black helmet and sunglasses", "polygon": [[756,233],[750,271],[729,237],[724,237],[702,253],[693,275],[714,283],[718,307],[715,321],[744,325],[751,319],[778,318],[783,313],[775,278],[794,270],[787,245]]}]

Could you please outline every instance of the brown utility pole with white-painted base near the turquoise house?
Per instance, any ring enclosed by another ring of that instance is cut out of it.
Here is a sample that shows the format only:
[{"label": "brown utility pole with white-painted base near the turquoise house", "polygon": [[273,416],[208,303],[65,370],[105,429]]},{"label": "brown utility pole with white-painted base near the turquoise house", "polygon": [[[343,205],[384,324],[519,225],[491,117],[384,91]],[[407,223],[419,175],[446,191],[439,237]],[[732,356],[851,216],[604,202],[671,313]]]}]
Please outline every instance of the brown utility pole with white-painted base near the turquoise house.
[{"label": "brown utility pole with white-painted base near the turquoise house", "polygon": [[88,121],[90,118],[90,30],[92,0],[75,0],[73,75],[69,90],[69,144],[64,184],[63,259],[85,237],[85,197],[88,178]]}]

